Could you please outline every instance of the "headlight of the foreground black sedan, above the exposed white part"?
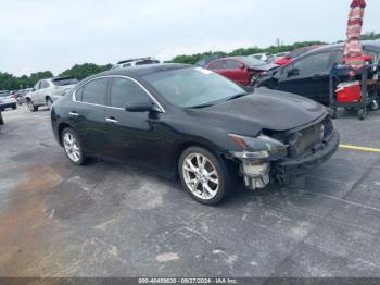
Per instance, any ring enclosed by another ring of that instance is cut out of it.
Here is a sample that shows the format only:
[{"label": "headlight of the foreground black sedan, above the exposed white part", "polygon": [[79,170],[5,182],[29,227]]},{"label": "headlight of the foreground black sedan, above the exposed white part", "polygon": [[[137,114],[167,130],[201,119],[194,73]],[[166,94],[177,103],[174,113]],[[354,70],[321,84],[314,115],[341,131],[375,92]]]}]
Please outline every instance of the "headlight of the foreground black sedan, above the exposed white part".
[{"label": "headlight of the foreground black sedan, above the exposed white part", "polygon": [[241,160],[280,159],[288,154],[288,147],[268,136],[244,137],[235,134],[228,136],[242,148],[242,151],[230,151],[231,156]]}]

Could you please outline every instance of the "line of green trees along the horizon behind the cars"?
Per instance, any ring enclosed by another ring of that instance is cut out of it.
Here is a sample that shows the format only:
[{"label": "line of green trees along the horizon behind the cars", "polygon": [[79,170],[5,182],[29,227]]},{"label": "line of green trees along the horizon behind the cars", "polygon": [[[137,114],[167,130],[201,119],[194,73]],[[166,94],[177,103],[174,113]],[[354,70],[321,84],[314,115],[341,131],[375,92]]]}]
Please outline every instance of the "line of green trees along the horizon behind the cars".
[{"label": "line of green trees along the horizon behind the cars", "polygon": [[[362,35],[362,39],[363,40],[380,39],[380,34],[377,34],[375,32],[366,33]],[[258,48],[258,47],[240,48],[231,52],[208,51],[208,52],[195,53],[195,54],[180,54],[175,57],[172,61],[168,61],[168,62],[194,64],[200,59],[206,55],[210,55],[212,53],[219,53],[226,57],[227,55],[229,57],[249,55],[249,54],[263,53],[263,52],[278,53],[278,52],[292,51],[294,49],[311,46],[311,45],[322,45],[322,44],[325,42],[315,40],[315,41],[294,42],[293,45],[277,45],[277,46],[270,46],[267,48]],[[92,74],[107,71],[111,67],[112,67],[112,64],[105,64],[105,65],[98,65],[94,63],[75,64],[73,67],[60,73],[58,76],[71,76],[80,80]],[[31,88],[33,86],[35,86],[35,84],[38,80],[43,78],[50,78],[53,76],[54,76],[53,73],[50,71],[31,73],[29,76],[23,75],[20,77],[9,73],[0,72],[0,90],[17,90],[17,89]]]}]

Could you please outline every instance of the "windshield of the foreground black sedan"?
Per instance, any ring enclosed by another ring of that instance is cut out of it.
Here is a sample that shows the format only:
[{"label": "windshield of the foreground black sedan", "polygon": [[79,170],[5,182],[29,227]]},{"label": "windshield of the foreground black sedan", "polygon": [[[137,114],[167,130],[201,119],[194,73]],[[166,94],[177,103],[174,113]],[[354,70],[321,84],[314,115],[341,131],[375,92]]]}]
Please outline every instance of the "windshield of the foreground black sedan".
[{"label": "windshield of the foreground black sedan", "polygon": [[246,94],[235,83],[201,67],[160,72],[143,78],[165,100],[182,108],[212,106]]}]

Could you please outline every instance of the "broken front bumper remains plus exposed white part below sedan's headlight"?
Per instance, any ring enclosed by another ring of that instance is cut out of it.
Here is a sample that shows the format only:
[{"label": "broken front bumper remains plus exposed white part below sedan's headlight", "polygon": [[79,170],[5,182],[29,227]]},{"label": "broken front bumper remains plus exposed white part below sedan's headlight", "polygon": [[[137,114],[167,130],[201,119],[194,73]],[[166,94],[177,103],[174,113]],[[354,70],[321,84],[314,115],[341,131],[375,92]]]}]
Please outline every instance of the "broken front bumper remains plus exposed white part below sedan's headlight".
[{"label": "broken front bumper remains plus exposed white part below sedan's headlight", "polygon": [[250,189],[261,189],[266,187],[270,177],[281,184],[288,184],[293,175],[300,175],[311,168],[317,166],[334,154],[339,147],[339,133],[333,132],[327,141],[312,154],[292,159],[280,160],[241,160],[240,172],[242,173],[245,186]]}]

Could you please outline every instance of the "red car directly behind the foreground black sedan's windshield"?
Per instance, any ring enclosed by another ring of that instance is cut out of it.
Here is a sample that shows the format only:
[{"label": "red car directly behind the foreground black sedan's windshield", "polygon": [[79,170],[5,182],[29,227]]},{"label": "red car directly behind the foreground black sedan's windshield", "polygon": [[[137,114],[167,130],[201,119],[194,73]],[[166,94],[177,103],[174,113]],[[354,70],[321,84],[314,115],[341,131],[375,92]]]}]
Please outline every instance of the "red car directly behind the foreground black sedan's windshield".
[{"label": "red car directly behind the foreground black sedan's windshield", "polygon": [[254,85],[258,75],[264,75],[277,66],[250,57],[230,57],[215,60],[208,63],[205,69],[248,86]]}]

